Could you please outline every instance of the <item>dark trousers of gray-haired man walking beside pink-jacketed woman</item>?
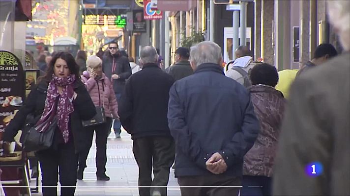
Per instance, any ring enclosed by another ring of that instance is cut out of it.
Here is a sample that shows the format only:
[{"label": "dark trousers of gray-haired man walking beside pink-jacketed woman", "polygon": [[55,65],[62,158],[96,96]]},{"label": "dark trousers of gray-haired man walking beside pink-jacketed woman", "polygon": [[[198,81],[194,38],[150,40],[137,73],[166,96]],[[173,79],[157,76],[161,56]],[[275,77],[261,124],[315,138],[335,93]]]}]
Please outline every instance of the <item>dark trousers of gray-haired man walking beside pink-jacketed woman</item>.
[{"label": "dark trousers of gray-haired man walking beside pink-jacketed woman", "polygon": [[170,167],[172,167],[175,159],[174,139],[171,137],[135,139],[133,153],[139,166],[140,196],[149,196],[156,192],[159,192],[162,196],[166,196]]}]

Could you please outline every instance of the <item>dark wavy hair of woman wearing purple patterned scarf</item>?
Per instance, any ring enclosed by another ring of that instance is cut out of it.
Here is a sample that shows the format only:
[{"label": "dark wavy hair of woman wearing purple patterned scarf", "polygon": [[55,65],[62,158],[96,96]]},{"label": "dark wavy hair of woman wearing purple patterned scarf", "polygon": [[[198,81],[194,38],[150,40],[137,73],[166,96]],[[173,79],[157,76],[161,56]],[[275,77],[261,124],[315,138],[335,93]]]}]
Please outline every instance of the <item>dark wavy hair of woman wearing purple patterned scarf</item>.
[{"label": "dark wavy hair of woman wearing purple patterned scarf", "polygon": [[45,75],[38,78],[39,82],[45,81],[45,82],[48,83],[48,82],[51,81],[52,74],[54,74],[54,66],[55,66],[55,63],[56,63],[58,58],[63,59],[67,63],[67,66],[68,66],[70,74],[74,74],[75,78],[77,78],[77,79],[80,78],[80,76],[79,76],[79,66],[75,62],[75,59],[74,59],[73,55],[71,53],[69,53],[69,52],[61,51],[61,52],[58,52],[55,56],[52,57],[52,60],[50,61],[49,65],[48,65],[48,68],[47,68],[47,71],[46,71]]}]

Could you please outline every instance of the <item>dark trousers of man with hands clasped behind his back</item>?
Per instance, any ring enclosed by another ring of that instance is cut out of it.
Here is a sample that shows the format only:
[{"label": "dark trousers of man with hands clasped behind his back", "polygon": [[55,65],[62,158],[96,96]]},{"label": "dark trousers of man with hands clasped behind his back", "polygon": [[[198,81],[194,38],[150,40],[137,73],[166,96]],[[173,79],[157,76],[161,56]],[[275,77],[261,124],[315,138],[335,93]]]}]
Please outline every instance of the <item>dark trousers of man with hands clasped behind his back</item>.
[{"label": "dark trousers of man with hands clasped behind his back", "polygon": [[[241,180],[225,175],[178,176],[181,196],[238,196]],[[187,186],[187,187],[186,187]]]}]

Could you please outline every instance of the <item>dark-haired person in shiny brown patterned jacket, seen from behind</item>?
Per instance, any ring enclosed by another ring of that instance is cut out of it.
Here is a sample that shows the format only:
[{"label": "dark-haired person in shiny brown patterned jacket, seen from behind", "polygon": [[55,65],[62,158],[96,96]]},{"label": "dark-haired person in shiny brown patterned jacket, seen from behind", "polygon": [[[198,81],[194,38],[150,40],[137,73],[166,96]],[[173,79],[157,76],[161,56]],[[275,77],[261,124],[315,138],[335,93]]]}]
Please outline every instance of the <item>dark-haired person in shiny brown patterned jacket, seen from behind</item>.
[{"label": "dark-haired person in shiny brown patterned jacket, seen from behind", "polygon": [[260,123],[258,138],[243,159],[241,196],[271,196],[272,167],[278,145],[285,99],[274,87],[278,73],[272,65],[263,63],[250,73],[248,88]]}]

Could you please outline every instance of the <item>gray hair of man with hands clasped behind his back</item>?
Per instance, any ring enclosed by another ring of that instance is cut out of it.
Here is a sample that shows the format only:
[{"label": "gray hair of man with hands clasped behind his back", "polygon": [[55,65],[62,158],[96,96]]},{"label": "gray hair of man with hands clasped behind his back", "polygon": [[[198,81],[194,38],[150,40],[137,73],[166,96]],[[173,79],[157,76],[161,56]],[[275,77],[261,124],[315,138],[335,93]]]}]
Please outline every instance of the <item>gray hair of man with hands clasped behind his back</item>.
[{"label": "gray hair of man with hands clasped behind his back", "polygon": [[211,41],[201,42],[191,47],[190,59],[197,66],[203,63],[218,64],[222,59],[221,48]]}]

